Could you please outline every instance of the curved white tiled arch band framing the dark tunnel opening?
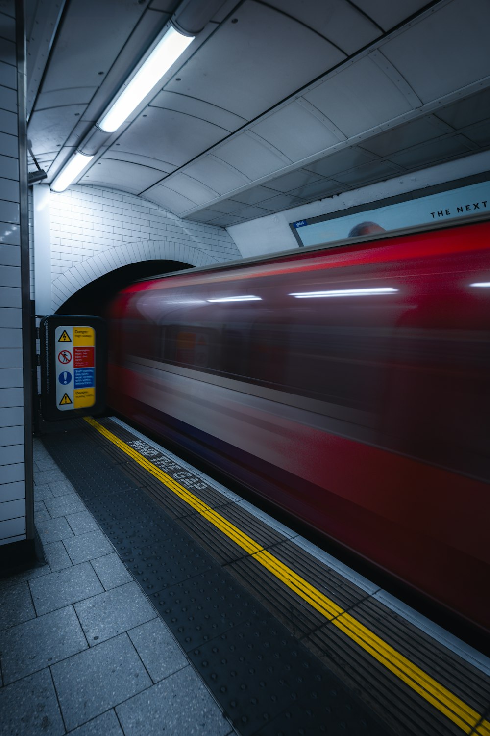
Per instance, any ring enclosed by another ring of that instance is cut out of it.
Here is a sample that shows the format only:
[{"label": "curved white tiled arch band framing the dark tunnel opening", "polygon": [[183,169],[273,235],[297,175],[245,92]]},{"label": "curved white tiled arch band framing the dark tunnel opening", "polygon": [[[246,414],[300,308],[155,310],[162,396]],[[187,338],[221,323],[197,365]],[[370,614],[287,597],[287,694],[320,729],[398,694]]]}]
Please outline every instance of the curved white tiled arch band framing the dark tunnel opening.
[{"label": "curved white tiled arch band framing the dark tunnel opening", "polygon": [[143,240],[123,243],[86,258],[57,277],[51,284],[51,309],[57,311],[76,291],[123,266],[141,261],[179,261],[188,266],[220,263],[200,248],[168,240]]}]

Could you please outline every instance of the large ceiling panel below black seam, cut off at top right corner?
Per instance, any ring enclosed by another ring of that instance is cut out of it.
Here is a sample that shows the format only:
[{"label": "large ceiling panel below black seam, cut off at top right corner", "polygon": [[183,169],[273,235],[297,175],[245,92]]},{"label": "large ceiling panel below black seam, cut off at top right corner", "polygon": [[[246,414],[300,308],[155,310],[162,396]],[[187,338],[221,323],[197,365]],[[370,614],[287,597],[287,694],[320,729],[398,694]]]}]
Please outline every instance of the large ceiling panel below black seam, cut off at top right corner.
[{"label": "large ceiling panel below black seam, cut off at top right corner", "polygon": [[489,75],[489,26],[488,0],[453,0],[381,51],[426,103]]}]

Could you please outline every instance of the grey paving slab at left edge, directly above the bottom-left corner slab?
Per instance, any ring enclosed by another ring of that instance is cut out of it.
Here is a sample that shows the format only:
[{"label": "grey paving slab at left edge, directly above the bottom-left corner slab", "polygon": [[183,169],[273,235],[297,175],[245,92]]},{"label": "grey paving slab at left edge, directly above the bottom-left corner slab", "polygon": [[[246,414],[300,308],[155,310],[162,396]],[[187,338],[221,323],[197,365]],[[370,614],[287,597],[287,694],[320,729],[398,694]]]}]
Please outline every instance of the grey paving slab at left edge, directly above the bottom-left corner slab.
[{"label": "grey paving slab at left edge, directly above the bottom-left corner slab", "polygon": [[86,648],[72,606],[0,631],[4,682],[18,680]]}]

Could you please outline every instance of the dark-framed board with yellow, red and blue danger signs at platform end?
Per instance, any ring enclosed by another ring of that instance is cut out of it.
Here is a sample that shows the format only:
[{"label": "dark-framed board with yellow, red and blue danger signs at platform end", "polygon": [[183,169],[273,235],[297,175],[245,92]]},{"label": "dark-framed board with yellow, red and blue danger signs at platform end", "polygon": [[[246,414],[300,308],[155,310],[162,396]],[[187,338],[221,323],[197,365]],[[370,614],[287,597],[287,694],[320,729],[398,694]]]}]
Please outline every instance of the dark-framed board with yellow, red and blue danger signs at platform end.
[{"label": "dark-framed board with yellow, red and blue danger signs at platform end", "polygon": [[105,407],[106,330],[99,317],[51,315],[40,323],[41,413],[46,420]]}]

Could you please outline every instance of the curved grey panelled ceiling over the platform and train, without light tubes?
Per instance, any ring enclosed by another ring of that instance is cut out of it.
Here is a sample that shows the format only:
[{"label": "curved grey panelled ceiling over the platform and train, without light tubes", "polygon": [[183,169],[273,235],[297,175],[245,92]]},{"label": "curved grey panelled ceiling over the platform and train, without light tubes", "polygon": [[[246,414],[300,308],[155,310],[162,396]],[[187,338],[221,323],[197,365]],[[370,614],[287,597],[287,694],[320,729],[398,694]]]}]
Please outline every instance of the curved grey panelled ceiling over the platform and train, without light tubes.
[{"label": "curved grey panelled ceiling over the platform and train, without light tubes", "polygon": [[[26,4],[33,43],[59,2]],[[48,181],[79,148],[84,182],[226,225],[490,146],[489,0],[223,0],[153,99],[94,135],[178,6],[66,2],[28,130]]]}]

